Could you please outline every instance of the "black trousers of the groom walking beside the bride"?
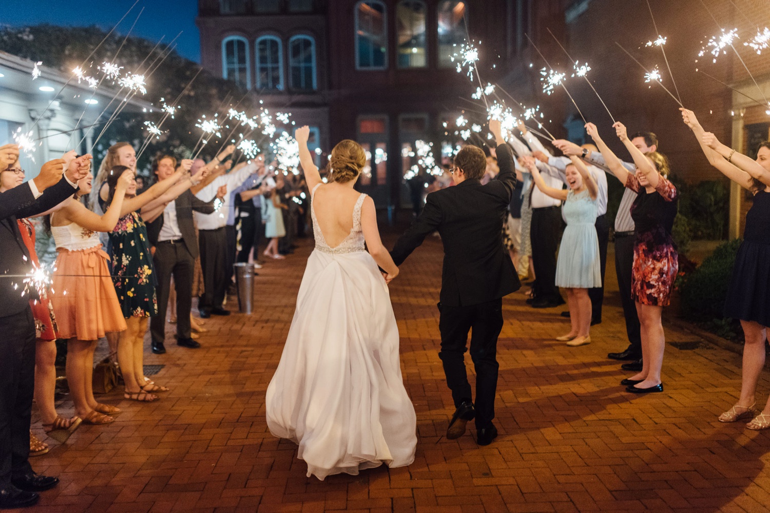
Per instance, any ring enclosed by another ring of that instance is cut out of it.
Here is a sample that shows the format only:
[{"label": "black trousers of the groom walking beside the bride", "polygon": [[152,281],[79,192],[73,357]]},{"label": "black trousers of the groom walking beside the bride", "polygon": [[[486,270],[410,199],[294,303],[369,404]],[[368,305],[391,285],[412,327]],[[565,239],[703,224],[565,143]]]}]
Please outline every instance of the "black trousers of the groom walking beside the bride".
[{"label": "black trousers of the groom walking beside the bride", "polygon": [[447,385],[455,408],[463,401],[473,401],[464,354],[470,334],[470,358],[476,368],[476,428],[488,428],[494,418],[497,391],[497,336],[503,328],[501,298],[471,306],[447,306],[439,303],[441,332],[439,358],[444,362]]}]

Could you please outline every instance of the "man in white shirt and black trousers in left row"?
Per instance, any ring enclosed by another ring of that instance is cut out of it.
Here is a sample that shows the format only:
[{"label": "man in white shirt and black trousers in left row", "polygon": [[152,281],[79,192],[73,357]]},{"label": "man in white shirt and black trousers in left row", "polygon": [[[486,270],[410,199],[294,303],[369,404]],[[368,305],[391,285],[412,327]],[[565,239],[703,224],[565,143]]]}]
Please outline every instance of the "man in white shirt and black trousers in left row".
[{"label": "man in white shirt and black trousers in left row", "polygon": [[[197,194],[197,198],[203,202],[210,202],[220,189],[234,191],[239,188],[246,179],[258,169],[256,161],[236,165],[226,175],[216,177],[213,182],[206,185]],[[205,291],[198,299],[198,311],[202,318],[213,315],[230,315],[223,308],[225,293],[227,291],[227,235],[225,226],[229,213],[229,202],[233,201],[232,195],[225,194],[222,205],[213,214],[201,214],[195,212],[196,225],[200,245],[200,265],[203,268],[203,285]]]}]

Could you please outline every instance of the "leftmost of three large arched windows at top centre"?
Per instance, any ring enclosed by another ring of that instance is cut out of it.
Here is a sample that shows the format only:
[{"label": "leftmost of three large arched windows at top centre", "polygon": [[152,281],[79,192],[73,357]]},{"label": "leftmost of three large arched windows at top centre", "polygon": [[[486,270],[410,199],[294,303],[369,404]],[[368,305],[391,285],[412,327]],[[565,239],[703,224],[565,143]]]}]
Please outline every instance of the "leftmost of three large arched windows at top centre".
[{"label": "leftmost of three large arched windows at top centre", "polygon": [[379,0],[356,4],[356,68],[387,68],[387,11]]}]

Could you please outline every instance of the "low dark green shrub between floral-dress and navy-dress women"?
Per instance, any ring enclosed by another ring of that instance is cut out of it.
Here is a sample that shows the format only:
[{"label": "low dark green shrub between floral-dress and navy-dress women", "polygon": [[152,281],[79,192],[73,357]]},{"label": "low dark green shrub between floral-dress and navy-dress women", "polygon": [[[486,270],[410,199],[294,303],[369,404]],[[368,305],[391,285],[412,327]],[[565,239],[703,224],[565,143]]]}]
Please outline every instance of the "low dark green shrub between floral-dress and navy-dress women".
[{"label": "low dark green shrub between floral-dress and navy-dress women", "polygon": [[728,283],[741,241],[719,245],[681,285],[681,312],[690,321],[723,319]]}]

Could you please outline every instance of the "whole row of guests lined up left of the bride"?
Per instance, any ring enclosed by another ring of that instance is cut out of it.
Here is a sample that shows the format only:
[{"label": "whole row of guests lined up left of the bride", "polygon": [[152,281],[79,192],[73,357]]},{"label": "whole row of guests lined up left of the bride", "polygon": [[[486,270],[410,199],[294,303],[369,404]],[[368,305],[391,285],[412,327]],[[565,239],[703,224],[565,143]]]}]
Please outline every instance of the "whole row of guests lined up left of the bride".
[{"label": "whole row of guests lined up left of the bride", "polygon": [[[169,388],[144,375],[148,324],[152,352],[165,353],[171,302],[176,345],[199,348],[194,331],[206,331],[201,319],[230,313],[233,264],[261,268],[260,255],[272,260],[293,252],[305,230],[304,182],[271,171],[263,158],[236,162],[234,150],[211,162],[158,155],[154,183],[139,188],[136,152],[126,142],[109,148],[95,176],[91,155],[69,152],[28,182],[18,146],[0,147],[0,329],[8,335],[0,342],[0,508],[32,505],[38,491],[58,482],[28,463],[29,455],[49,450],[29,430],[32,398],[46,435],[60,443],[82,423],[109,424],[120,413],[94,397],[99,339],[108,339],[116,357],[123,398],[156,401]],[[39,216],[57,252],[49,284],[29,221]],[[37,281],[29,278],[35,269]],[[194,296],[199,318],[192,315]],[[55,408],[58,339],[66,341],[70,418]]]}]

